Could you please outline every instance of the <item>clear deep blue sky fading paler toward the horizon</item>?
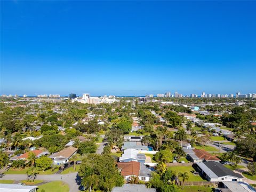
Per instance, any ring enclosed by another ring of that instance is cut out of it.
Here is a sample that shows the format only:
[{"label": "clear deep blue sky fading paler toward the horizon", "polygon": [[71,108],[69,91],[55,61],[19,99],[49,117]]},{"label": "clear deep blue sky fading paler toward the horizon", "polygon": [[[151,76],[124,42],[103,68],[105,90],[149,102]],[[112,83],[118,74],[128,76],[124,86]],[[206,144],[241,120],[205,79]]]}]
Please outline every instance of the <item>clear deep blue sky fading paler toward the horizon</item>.
[{"label": "clear deep blue sky fading paler toward the horizon", "polygon": [[1,94],[255,93],[255,9],[1,1]]}]

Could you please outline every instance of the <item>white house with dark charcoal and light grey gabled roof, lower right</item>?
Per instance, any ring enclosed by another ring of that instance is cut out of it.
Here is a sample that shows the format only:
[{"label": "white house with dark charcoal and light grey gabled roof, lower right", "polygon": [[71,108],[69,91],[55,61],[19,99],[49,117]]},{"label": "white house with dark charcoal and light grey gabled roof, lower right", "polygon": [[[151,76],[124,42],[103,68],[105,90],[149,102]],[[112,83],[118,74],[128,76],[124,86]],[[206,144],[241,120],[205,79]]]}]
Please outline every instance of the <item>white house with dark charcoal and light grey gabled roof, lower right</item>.
[{"label": "white house with dark charcoal and light grey gabled roof, lower right", "polygon": [[199,171],[208,181],[242,181],[242,175],[234,173],[224,165],[218,162],[200,162],[196,163]]}]

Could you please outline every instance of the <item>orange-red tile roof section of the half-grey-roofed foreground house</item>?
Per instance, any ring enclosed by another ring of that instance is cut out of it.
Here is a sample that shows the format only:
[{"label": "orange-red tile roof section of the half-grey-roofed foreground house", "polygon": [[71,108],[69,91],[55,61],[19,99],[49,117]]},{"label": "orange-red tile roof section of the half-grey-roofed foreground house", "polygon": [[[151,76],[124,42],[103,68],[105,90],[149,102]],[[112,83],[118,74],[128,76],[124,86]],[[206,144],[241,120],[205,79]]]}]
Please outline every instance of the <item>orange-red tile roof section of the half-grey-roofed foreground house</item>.
[{"label": "orange-red tile roof section of the half-grey-roofed foreground house", "polygon": [[121,175],[137,175],[140,173],[140,163],[139,162],[119,162],[117,163],[118,169],[122,169]]}]

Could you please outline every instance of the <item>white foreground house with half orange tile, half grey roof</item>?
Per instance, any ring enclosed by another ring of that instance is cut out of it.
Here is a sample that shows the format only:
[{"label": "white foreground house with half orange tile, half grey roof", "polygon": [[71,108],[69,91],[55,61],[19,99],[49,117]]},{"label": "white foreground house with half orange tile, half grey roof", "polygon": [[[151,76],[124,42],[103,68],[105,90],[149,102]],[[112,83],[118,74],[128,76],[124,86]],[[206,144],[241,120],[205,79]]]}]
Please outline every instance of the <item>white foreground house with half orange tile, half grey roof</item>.
[{"label": "white foreground house with half orange tile, half grey roof", "polygon": [[152,171],[143,163],[135,161],[119,162],[117,163],[117,167],[121,171],[121,175],[127,181],[130,181],[132,176],[139,177],[139,179],[143,181],[149,181],[151,178]]}]

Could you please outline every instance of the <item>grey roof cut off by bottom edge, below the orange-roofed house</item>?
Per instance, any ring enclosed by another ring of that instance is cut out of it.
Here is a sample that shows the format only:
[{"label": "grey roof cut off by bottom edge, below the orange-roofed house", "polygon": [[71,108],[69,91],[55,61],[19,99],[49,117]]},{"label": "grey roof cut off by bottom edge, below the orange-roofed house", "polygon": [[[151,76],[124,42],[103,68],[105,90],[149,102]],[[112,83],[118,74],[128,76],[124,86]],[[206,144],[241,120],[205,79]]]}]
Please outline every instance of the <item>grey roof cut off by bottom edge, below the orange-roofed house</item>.
[{"label": "grey roof cut off by bottom edge, below the orange-roofed house", "polygon": [[114,187],[111,192],[156,192],[156,189],[147,188],[146,185],[124,184],[122,187]]}]

